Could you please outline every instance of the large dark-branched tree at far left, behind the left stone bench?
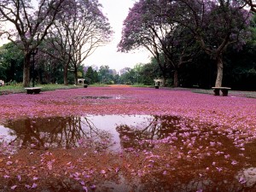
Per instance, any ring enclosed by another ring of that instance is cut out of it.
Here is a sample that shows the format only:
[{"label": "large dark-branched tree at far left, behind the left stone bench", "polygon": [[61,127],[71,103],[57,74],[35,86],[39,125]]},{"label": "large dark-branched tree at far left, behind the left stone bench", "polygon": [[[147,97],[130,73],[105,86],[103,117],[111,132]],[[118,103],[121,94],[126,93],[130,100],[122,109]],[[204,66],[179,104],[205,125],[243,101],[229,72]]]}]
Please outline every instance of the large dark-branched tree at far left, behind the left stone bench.
[{"label": "large dark-branched tree at far left, behind the left stone bench", "polygon": [[[1,0],[0,1],[0,35],[5,36],[15,44],[20,44],[24,53],[23,85],[30,81],[30,59],[37,49],[56,15],[61,11],[61,5],[67,0],[40,0],[35,9],[31,0]],[[11,26],[9,25],[11,24]],[[4,27],[4,26],[10,26]]]}]

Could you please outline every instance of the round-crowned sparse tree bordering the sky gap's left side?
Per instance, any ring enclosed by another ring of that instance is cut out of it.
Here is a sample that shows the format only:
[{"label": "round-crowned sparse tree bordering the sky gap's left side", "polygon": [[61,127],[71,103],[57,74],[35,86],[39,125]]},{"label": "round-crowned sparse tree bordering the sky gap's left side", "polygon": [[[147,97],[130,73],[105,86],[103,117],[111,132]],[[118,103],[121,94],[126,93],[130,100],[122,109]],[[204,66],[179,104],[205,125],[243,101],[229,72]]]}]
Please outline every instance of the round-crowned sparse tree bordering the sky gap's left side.
[{"label": "round-crowned sparse tree bordering the sky gap's left side", "polygon": [[59,53],[57,56],[65,62],[64,79],[67,79],[69,66],[75,84],[78,83],[78,67],[96,48],[108,43],[113,33],[101,7],[97,0],[73,1],[72,6],[66,8],[67,14],[58,17],[49,33],[51,45]]}]

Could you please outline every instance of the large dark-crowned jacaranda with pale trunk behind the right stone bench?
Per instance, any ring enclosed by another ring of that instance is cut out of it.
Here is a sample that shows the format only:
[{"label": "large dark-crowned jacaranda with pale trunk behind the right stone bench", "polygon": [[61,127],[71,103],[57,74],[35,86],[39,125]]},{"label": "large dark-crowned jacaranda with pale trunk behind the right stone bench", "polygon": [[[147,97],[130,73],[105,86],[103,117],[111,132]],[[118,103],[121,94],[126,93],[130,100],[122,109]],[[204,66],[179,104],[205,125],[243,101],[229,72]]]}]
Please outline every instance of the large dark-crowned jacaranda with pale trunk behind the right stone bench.
[{"label": "large dark-crowned jacaranda with pale trunk behind the right stone bench", "polygon": [[[169,0],[170,2],[174,2]],[[170,9],[170,19],[186,26],[217,67],[215,86],[222,86],[223,55],[228,46],[241,49],[250,32],[251,16],[238,1],[177,0]],[[175,7],[175,9],[173,9]],[[185,14],[186,13],[186,14]]]}]

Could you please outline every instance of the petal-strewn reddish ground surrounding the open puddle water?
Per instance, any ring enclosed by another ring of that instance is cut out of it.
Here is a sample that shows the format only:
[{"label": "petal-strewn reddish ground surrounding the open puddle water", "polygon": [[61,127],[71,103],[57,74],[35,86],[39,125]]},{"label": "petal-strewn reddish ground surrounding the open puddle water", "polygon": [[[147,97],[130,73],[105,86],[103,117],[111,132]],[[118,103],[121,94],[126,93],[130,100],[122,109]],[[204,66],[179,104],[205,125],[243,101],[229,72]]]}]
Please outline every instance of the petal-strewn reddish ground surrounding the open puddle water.
[{"label": "petal-strewn reddish ground surrounding the open puddle water", "polygon": [[[16,119],[86,114],[178,117],[170,120],[176,122],[176,128],[159,140],[137,141],[134,137],[142,131],[119,126],[122,143],[134,139],[138,146],[148,148],[113,152],[89,148],[87,143],[79,148],[16,151],[13,143],[2,142],[3,191],[250,191],[256,185],[256,177],[253,180],[245,173],[253,175],[256,166],[252,144],[255,99],[114,86],[4,95],[0,96],[0,106],[2,125]],[[160,125],[168,128],[168,119],[158,118],[150,123],[152,130],[160,120]]]}]

